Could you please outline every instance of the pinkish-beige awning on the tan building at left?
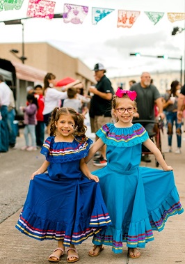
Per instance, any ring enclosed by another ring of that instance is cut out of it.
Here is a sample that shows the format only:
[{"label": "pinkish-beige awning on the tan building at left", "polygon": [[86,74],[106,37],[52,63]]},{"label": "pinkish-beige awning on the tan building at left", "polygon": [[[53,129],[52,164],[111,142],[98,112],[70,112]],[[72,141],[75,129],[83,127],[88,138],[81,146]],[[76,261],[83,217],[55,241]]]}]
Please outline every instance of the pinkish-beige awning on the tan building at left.
[{"label": "pinkish-beige awning on the tan building at left", "polygon": [[40,70],[23,63],[17,63],[15,61],[11,61],[11,63],[15,67],[17,79],[43,82],[45,75],[47,75],[47,72],[44,70]]}]

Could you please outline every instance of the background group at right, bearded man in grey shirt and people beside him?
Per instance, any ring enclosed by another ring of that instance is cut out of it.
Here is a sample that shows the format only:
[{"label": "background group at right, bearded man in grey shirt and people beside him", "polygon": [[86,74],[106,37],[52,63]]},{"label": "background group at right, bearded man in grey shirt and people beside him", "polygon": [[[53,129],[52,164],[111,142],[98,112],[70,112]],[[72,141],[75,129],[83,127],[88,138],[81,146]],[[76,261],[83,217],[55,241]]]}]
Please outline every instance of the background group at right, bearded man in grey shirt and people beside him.
[{"label": "background group at right, bearded man in grey shirt and people beside him", "polygon": [[[164,153],[172,152],[172,134],[176,133],[177,147],[174,150],[176,154],[182,153],[182,125],[185,118],[185,84],[182,86],[179,81],[172,81],[170,88],[166,90],[164,95],[161,95],[153,84],[148,72],[143,72],[140,77],[140,82],[132,83],[130,91],[136,91],[138,96],[136,99],[138,113],[134,115],[134,121],[141,120],[141,124],[145,127],[151,137],[156,133],[154,123],[147,121],[158,121],[161,118],[165,122],[166,132],[168,134],[168,148]],[[130,83],[130,82],[129,82]],[[175,130],[174,130],[175,126]],[[184,128],[184,127],[183,127]],[[143,152],[146,148],[142,146]],[[151,162],[148,155],[143,155],[141,160]]]}]

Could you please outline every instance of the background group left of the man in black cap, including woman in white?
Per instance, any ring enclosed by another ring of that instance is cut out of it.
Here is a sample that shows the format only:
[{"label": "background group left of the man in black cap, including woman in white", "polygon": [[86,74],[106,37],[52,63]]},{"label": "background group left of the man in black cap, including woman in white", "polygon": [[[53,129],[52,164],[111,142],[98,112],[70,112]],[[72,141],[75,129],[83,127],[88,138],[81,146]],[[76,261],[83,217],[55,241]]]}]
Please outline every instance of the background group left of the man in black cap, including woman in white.
[{"label": "background group left of the man in black cap, including woman in white", "polygon": [[[25,146],[21,150],[33,151],[42,148],[45,132],[50,134],[49,121],[54,107],[72,106],[85,116],[88,113],[90,97],[84,95],[83,84],[70,77],[57,81],[56,76],[47,73],[43,83],[26,88],[26,105],[19,107],[24,116]],[[59,85],[63,85],[60,86]],[[57,87],[57,88],[56,88]],[[13,91],[0,75],[0,153],[16,149],[18,136],[15,125],[15,99]]]}]

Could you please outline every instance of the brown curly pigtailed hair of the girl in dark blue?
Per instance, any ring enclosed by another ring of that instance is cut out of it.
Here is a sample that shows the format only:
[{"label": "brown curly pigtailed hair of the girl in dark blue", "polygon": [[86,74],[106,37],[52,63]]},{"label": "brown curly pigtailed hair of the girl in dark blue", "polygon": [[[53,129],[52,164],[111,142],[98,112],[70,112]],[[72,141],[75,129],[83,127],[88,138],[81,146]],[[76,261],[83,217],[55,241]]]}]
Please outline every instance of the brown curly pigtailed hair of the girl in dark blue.
[{"label": "brown curly pigtailed hair of the girl in dark blue", "polygon": [[86,137],[87,127],[84,125],[83,120],[84,117],[82,114],[77,113],[74,109],[70,107],[55,107],[51,113],[50,119],[50,136],[56,136],[56,125],[55,123],[58,121],[61,115],[70,115],[72,116],[76,129],[74,130],[74,138],[78,142],[85,142],[88,137]]}]

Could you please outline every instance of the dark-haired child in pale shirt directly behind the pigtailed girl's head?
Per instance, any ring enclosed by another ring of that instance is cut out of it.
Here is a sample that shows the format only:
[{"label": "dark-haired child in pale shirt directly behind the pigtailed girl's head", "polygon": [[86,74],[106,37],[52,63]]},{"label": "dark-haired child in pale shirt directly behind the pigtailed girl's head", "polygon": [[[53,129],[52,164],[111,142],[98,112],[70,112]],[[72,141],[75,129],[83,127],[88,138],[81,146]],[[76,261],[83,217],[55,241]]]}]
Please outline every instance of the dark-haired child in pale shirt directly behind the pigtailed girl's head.
[{"label": "dark-haired child in pale shirt directly behind the pigtailed girl's head", "polygon": [[82,113],[82,103],[81,100],[77,98],[77,88],[71,87],[67,90],[67,97],[63,101],[63,107],[73,108],[77,113]]}]

